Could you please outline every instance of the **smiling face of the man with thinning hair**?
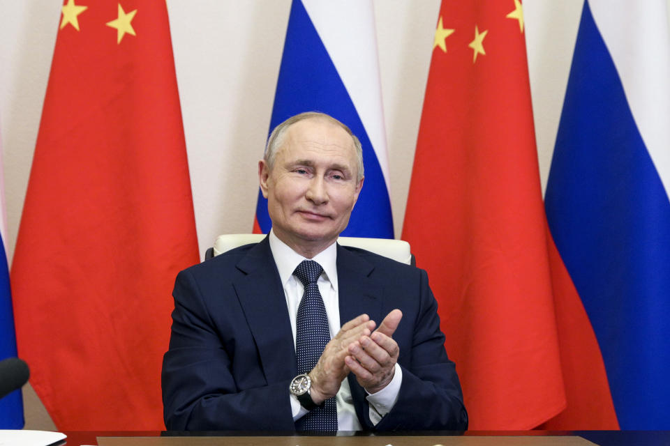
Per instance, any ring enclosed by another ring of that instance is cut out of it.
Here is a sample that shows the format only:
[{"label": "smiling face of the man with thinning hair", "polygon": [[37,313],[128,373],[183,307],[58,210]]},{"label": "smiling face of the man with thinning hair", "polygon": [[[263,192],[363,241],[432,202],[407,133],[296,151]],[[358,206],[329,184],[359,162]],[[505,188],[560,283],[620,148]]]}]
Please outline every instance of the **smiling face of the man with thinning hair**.
[{"label": "smiling face of the man with thinning hair", "polygon": [[275,235],[306,257],[345,229],[363,185],[352,138],[322,118],[291,125],[272,169],[261,161],[258,173]]}]

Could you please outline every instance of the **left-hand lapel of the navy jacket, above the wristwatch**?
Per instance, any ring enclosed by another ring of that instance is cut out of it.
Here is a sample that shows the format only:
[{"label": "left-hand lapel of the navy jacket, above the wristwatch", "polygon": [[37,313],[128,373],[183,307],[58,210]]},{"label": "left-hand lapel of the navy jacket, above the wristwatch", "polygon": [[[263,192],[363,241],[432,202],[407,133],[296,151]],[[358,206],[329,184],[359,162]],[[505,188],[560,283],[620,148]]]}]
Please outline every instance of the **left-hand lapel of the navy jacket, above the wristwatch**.
[{"label": "left-hand lapel of the navy jacket, above the wristwatch", "polygon": [[253,247],[237,268],[235,280],[240,305],[258,348],[268,383],[297,375],[295,346],[288,308],[268,238]]}]

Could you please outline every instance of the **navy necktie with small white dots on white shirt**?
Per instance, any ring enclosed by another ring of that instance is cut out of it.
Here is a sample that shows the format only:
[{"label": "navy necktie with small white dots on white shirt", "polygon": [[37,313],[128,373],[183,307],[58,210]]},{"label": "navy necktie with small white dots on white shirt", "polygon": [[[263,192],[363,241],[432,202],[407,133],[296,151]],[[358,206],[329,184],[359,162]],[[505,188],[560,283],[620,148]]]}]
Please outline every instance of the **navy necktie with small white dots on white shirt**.
[{"label": "navy necktie with small white dots on white shirt", "polygon": [[[295,329],[295,358],[299,374],[306,374],[314,368],[330,341],[326,307],[317,285],[322,271],[323,268],[315,261],[304,260],[293,272],[305,287]],[[299,418],[295,425],[298,431],[337,431],[335,397]]]}]

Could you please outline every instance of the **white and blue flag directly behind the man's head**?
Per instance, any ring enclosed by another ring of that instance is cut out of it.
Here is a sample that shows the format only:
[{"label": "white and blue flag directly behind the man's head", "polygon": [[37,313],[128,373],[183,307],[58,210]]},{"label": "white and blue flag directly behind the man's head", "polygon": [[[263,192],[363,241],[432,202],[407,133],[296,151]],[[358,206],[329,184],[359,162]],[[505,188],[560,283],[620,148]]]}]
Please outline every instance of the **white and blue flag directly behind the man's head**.
[{"label": "white and blue flag directly behind the man's head", "polygon": [[[365,184],[343,236],[393,238],[389,169],[371,1],[293,0],[270,130],[301,112],[348,125],[363,146]],[[269,232],[258,194],[254,232]]]}]

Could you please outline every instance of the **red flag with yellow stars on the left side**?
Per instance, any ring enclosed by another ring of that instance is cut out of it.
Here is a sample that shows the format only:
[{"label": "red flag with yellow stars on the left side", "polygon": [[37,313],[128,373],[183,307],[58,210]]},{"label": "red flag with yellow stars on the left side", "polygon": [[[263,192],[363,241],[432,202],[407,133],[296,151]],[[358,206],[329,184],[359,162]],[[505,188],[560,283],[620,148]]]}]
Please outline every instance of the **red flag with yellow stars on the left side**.
[{"label": "red flag with yellow stars on the left side", "polygon": [[163,429],[170,292],[198,258],[165,2],[68,0],[11,277],[59,429]]}]

